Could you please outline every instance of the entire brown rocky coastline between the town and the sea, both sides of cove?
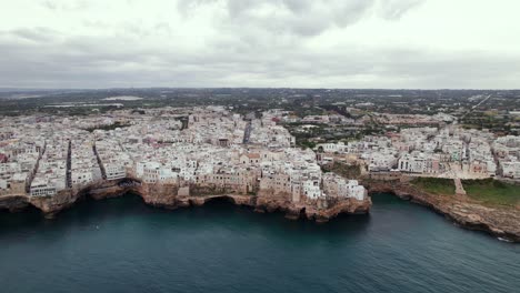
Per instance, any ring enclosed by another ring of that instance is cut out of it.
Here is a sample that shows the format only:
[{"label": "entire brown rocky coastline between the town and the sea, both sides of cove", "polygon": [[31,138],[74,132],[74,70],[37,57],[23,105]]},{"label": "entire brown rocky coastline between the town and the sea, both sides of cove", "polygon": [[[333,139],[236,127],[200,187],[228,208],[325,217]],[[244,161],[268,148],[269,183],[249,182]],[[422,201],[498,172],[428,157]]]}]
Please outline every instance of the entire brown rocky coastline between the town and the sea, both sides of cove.
[{"label": "entire brown rocky coastline between the town and the sea, both sides of cove", "polygon": [[[72,208],[84,198],[103,200],[123,196],[127,193],[139,195],[146,204],[176,210],[179,208],[200,206],[213,199],[227,199],[236,205],[251,208],[254,212],[283,212],[290,220],[308,219],[328,222],[339,214],[368,214],[372,205],[370,196],[364,201],[353,199],[328,202],[306,201],[293,203],[284,196],[266,194],[236,194],[214,192],[208,186],[191,186],[192,192],[183,192],[176,185],[140,184],[121,185],[128,179],[103,181],[79,190],[66,190],[52,198],[31,198],[28,195],[0,196],[0,210],[19,212],[29,206],[39,209],[46,218],[53,218],[60,211]],[[460,228],[482,231],[508,242],[520,243],[520,211],[514,209],[488,208],[461,196],[436,195],[419,190],[400,181],[363,182],[369,194],[389,193],[401,200],[429,208],[452,221]]]}]

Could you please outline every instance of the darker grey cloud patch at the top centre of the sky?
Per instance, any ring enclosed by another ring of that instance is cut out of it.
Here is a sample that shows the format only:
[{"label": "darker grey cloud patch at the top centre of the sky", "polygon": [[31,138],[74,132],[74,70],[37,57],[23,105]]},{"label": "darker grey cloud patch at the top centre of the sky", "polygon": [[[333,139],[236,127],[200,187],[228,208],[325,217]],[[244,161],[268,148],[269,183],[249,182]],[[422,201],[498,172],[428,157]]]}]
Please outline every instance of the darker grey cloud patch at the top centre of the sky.
[{"label": "darker grey cloud patch at the top centre of the sky", "polygon": [[[313,37],[323,31],[357,23],[381,7],[386,19],[399,19],[423,0],[181,0],[179,10],[184,16],[203,6],[223,3],[228,18],[216,23],[231,28],[251,28],[271,33]],[[270,9],[259,13],[260,9]]]}]

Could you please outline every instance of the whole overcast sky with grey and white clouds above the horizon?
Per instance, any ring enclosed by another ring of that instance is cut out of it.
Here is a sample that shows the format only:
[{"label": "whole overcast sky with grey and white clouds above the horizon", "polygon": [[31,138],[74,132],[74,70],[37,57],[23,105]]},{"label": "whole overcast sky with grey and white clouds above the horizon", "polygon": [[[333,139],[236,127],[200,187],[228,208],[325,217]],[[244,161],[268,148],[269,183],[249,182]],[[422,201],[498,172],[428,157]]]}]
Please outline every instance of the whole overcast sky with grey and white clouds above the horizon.
[{"label": "whole overcast sky with grey and white clouds above the horizon", "polygon": [[519,89],[519,0],[2,0],[0,87]]}]

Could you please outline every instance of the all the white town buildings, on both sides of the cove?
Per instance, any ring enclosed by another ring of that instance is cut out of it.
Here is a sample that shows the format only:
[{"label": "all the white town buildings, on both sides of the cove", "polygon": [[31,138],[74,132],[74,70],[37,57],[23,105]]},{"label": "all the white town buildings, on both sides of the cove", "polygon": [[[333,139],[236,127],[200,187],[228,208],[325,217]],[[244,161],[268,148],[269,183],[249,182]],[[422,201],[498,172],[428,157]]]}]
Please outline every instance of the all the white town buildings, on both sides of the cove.
[{"label": "all the white town buildings, on both sides of the cove", "polygon": [[101,180],[136,178],[294,202],[362,200],[367,191],[357,181],[321,171],[319,163],[338,159],[361,161],[369,172],[520,178],[520,137],[456,125],[408,128],[319,144],[317,160],[313,151],[293,148],[294,138],[277,124],[283,118],[286,112],[271,110],[244,120],[222,107],[6,118],[0,120],[0,195],[52,196]]}]

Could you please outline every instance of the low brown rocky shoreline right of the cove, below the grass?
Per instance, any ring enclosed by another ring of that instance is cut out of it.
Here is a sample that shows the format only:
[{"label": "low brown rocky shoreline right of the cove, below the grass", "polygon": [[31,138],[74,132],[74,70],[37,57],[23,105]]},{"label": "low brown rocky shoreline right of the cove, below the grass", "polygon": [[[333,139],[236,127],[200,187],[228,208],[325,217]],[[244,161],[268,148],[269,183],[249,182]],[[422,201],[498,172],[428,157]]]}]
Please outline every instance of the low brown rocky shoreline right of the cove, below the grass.
[{"label": "low brown rocky shoreline right of the cove, below the grass", "polygon": [[520,211],[488,208],[460,195],[436,195],[400,181],[366,182],[370,194],[391,193],[444,215],[457,225],[487,232],[499,240],[520,243]]}]

